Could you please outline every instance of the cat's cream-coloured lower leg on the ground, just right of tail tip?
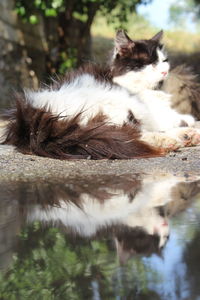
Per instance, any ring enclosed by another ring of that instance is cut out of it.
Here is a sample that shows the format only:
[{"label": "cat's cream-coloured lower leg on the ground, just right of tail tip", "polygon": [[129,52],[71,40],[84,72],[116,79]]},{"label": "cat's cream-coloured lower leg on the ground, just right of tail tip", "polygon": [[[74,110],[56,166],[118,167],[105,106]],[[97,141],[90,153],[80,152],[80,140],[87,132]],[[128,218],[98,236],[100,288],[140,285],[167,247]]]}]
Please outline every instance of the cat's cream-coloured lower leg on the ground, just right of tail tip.
[{"label": "cat's cream-coloured lower leg on the ground, just right of tail tip", "polygon": [[165,148],[169,151],[182,147],[200,145],[200,129],[191,127],[173,128],[166,132],[142,133],[141,140],[152,146]]}]

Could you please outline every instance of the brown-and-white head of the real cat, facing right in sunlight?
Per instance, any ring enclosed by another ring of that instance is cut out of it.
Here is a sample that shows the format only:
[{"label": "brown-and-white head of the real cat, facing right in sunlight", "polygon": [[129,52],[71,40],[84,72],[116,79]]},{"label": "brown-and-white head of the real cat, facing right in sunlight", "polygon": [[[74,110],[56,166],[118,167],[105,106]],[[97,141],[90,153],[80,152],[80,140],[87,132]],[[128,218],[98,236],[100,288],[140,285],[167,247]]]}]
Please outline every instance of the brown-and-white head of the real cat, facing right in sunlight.
[{"label": "brown-and-white head of the real cat, facing right in sunlight", "polygon": [[169,72],[167,55],[160,43],[163,32],[149,40],[131,40],[119,30],[111,64],[113,81],[130,91],[155,88]]}]

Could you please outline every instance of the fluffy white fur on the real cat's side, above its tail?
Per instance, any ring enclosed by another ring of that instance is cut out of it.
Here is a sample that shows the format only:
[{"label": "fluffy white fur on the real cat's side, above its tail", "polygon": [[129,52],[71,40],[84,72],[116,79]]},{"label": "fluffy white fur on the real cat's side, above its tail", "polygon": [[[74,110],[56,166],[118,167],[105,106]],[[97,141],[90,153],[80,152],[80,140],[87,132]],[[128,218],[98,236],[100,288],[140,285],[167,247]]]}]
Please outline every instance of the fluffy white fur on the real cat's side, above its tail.
[{"label": "fluffy white fur on the real cat's side, above its tail", "polygon": [[72,83],[65,83],[58,90],[27,92],[26,99],[34,107],[47,106],[52,113],[62,117],[73,117],[82,111],[81,124],[99,112],[108,117],[110,123],[122,125],[127,122],[129,110],[140,120],[146,113],[137,96],[130,96],[126,89],[101,83],[89,74],[77,77]]}]

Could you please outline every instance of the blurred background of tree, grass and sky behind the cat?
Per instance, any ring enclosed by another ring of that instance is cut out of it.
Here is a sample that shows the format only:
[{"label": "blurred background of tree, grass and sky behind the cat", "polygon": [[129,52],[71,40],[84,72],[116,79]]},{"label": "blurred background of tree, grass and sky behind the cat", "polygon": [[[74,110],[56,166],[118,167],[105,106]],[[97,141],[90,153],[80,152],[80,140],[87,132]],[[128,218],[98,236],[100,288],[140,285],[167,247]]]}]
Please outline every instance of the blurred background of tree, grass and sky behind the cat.
[{"label": "blurred background of tree, grass and sky behind the cat", "polygon": [[164,29],[172,68],[200,74],[200,0],[1,0],[0,9],[0,107],[22,87],[108,61],[118,28],[133,39]]}]

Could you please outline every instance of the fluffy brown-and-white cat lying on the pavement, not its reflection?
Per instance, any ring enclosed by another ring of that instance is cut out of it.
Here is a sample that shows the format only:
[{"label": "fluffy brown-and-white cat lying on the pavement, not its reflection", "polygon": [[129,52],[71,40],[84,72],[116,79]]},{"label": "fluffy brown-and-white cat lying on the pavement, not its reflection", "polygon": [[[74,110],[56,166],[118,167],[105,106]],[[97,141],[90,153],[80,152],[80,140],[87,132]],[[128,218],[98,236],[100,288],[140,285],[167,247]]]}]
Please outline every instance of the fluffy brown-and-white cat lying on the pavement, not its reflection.
[{"label": "fluffy brown-and-white cat lying on the pavement, not its reflection", "polygon": [[8,114],[3,143],[60,159],[154,157],[200,144],[194,118],[155,90],[169,72],[162,35],[132,40],[119,30],[108,67],[86,65],[48,88],[25,91]]}]

